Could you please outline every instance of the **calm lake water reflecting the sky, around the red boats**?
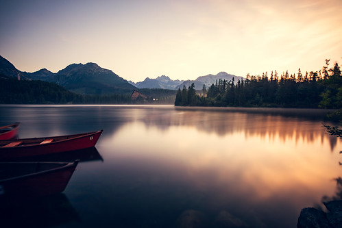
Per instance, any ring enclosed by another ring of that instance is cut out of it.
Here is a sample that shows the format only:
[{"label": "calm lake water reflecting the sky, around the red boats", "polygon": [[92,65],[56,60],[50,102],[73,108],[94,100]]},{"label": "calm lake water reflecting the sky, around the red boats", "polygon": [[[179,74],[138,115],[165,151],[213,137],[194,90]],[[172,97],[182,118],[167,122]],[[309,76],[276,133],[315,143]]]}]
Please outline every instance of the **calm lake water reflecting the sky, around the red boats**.
[{"label": "calm lake water reflecting the sky, around the red boats", "polygon": [[315,110],[0,106],[0,125],[17,121],[21,138],[103,129],[62,194],[3,218],[36,227],[296,227],[341,176]]}]

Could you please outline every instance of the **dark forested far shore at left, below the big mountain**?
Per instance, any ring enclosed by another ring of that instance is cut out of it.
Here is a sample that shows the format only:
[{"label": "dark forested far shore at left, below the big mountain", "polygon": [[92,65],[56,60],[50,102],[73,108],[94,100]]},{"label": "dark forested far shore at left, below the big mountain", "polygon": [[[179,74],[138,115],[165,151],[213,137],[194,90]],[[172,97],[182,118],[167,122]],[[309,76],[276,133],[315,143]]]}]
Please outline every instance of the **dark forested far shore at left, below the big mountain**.
[{"label": "dark forested far shore at left, below the big mountain", "polygon": [[0,104],[172,104],[175,90],[146,89],[147,99],[131,94],[84,95],[47,81],[18,81],[0,75]]}]

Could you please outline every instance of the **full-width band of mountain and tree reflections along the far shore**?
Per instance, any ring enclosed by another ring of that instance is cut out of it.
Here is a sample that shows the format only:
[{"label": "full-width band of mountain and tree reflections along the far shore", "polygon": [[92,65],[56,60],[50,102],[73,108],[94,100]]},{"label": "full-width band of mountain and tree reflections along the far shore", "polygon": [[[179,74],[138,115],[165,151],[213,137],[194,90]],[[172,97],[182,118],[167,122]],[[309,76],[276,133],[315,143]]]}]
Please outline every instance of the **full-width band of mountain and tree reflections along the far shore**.
[{"label": "full-width band of mountain and tree reflections along the far shore", "polygon": [[[265,108],[205,108],[131,105],[14,105],[3,106],[1,116],[21,123],[21,138],[58,136],[104,129],[104,134],[115,134],[123,125],[142,122],[147,127],[167,130],[169,127],[195,127],[218,136],[243,132],[284,142],[295,139],[329,140],[333,150],[337,138],[328,136],[322,127],[329,110],[265,109]],[[75,118],[78,118],[75,121]],[[9,123],[5,118],[3,124]],[[315,125],[313,125],[315,123]],[[317,124],[319,123],[319,124]],[[29,127],[35,125],[35,127]],[[75,129],[78,129],[75,132]]]}]

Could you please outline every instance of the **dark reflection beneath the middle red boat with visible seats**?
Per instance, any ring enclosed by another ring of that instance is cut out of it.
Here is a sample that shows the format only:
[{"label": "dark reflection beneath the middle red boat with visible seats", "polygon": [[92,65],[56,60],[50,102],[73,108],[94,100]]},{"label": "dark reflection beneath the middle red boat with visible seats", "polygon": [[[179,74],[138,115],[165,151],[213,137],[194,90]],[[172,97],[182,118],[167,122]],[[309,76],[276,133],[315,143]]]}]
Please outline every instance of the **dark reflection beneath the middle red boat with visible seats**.
[{"label": "dark reflection beneath the middle red boat with visible seats", "polygon": [[6,160],[1,160],[1,162],[73,162],[75,160],[80,160],[80,162],[103,162],[103,159],[96,147],[49,155],[9,158]]}]

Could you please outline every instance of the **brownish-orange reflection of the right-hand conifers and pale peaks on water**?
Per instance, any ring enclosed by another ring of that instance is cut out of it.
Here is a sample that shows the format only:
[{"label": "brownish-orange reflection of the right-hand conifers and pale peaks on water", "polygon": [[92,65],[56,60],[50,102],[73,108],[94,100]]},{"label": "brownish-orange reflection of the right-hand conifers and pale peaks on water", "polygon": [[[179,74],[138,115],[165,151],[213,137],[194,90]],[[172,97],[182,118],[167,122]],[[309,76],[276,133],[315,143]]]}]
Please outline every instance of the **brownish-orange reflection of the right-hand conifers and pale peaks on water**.
[{"label": "brownish-orange reflection of the right-hand conifers and pale peaks on water", "polygon": [[[223,112],[224,110],[221,110],[221,112],[208,112],[208,110],[184,110],[184,108],[177,108],[176,110],[178,112],[167,114],[164,114],[162,110],[143,112],[140,113],[143,116],[138,121],[145,123],[148,127],[156,126],[162,130],[173,126],[186,126],[195,127],[207,134],[215,133],[219,136],[243,132],[245,138],[257,136],[261,140],[267,138],[267,140],[271,141],[274,141],[275,138],[280,138],[283,142],[293,139],[295,142],[300,140],[306,142],[329,140],[331,150],[337,144],[337,138],[328,136],[323,125],[319,122],[323,120],[323,114],[321,112],[317,114],[313,110],[306,110],[306,112],[300,110],[302,112],[299,112],[298,115],[296,115],[298,110],[293,110],[293,112],[287,113],[287,116],[290,116],[287,118],[279,115],[278,112],[276,112],[277,115],[274,113],[260,114],[261,110],[257,114]],[[303,118],[305,114],[314,115],[319,118],[319,121],[310,121],[310,119]]]}]

